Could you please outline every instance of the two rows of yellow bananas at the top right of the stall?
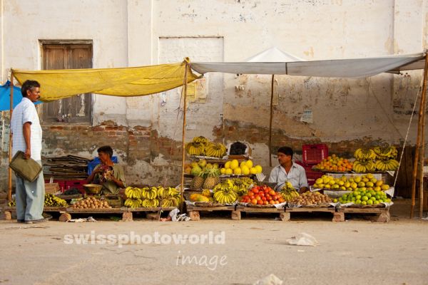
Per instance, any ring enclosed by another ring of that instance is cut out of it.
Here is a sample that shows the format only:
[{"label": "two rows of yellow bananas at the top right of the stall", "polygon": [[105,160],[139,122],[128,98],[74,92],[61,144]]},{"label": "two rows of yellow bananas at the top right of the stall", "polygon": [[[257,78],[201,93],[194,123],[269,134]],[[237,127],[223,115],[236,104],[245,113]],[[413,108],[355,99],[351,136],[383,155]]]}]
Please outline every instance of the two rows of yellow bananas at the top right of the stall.
[{"label": "two rows of yellow bananas at the top right of the stall", "polygon": [[369,149],[359,148],[354,152],[356,160],[352,170],[357,173],[397,170],[399,166],[397,155],[397,147],[392,145]]}]

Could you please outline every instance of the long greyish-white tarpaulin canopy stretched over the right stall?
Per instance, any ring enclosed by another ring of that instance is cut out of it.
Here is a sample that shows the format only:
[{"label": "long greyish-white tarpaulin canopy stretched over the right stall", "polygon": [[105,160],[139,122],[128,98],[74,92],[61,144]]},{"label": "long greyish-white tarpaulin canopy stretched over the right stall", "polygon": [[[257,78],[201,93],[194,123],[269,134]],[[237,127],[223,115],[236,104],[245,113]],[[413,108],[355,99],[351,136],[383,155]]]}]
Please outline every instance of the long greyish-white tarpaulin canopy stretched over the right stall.
[{"label": "long greyish-white tarpaulin canopy stretched over the right stall", "polygon": [[295,62],[237,62],[190,63],[191,68],[204,74],[222,72],[234,74],[287,74],[289,76],[367,77],[383,72],[423,69],[425,53],[382,56],[377,58],[351,58],[326,61]]}]

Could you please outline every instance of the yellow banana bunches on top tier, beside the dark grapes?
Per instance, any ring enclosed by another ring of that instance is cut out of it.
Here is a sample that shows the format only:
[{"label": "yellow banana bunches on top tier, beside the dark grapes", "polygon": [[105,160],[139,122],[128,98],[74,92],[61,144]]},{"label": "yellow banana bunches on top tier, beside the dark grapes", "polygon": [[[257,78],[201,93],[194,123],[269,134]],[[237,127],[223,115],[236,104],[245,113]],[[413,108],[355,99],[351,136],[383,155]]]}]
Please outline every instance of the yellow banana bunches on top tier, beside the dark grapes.
[{"label": "yellow banana bunches on top tier, beside the dark grapes", "polygon": [[205,137],[195,137],[185,144],[188,155],[202,155],[208,157],[223,157],[226,155],[226,147],[223,143],[211,142]]}]

